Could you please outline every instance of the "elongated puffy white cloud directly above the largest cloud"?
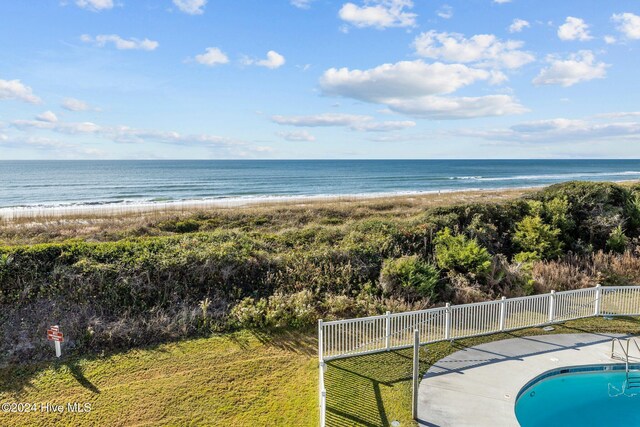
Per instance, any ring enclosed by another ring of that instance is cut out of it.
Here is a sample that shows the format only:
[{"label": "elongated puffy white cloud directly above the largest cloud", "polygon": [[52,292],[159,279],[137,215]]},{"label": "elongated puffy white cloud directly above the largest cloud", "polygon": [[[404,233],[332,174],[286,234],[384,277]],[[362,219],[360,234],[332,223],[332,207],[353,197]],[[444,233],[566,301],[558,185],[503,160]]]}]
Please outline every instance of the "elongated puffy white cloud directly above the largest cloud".
[{"label": "elongated puffy white cloud directly above the largest cloud", "polygon": [[510,69],[535,59],[532,54],[520,50],[523,44],[515,40],[501,41],[492,34],[465,38],[462,34],[433,30],[420,34],[413,42],[416,53],[425,58]]}]

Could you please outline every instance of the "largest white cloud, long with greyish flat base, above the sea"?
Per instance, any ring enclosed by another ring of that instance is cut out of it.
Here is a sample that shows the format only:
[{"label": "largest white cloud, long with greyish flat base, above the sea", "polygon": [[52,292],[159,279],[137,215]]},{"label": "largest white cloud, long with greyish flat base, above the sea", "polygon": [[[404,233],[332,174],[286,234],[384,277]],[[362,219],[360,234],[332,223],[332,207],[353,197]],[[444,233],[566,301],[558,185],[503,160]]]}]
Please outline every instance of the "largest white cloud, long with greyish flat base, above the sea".
[{"label": "largest white cloud, long with greyish flat base, above the sea", "polygon": [[494,72],[463,64],[426,64],[422,60],[384,64],[369,70],[331,68],[320,86],[327,95],[386,105],[395,112],[423,118],[458,119],[519,114],[526,109],[508,95],[443,97]]}]

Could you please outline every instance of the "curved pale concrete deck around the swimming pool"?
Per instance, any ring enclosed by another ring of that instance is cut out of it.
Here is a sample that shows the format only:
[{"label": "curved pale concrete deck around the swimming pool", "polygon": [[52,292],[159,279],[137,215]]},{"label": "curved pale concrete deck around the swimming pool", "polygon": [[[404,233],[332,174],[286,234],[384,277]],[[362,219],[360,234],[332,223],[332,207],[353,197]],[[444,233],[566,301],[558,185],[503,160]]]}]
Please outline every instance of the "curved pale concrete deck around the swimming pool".
[{"label": "curved pale concrete deck around the swimming pool", "polygon": [[557,334],[495,341],[453,353],[420,382],[418,424],[518,427],[514,407],[530,380],[565,366],[621,363],[610,358],[621,334]]}]

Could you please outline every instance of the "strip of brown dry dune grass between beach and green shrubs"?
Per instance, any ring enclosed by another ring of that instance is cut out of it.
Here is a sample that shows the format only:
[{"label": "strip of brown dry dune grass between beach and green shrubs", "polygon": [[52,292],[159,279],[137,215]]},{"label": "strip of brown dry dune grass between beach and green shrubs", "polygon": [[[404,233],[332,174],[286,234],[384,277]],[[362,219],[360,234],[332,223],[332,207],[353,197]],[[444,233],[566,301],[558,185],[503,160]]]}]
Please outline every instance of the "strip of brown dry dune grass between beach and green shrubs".
[{"label": "strip of brown dry dune grass between beach and green shrubs", "polygon": [[115,241],[127,237],[171,234],[162,229],[166,221],[207,218],[209,224],[224,229],[299,228],[308,224],[340,224],[369,217],[410,218],[425,209],[465,203],[495,203],[512,200],[534,189],[461,191],[441,194],[372,198],[331,198],[271,202],[234,207],[148,210],[111,214],[62,215],[6,220],[0,217],[0,245],[60,242],[69,239]]}]

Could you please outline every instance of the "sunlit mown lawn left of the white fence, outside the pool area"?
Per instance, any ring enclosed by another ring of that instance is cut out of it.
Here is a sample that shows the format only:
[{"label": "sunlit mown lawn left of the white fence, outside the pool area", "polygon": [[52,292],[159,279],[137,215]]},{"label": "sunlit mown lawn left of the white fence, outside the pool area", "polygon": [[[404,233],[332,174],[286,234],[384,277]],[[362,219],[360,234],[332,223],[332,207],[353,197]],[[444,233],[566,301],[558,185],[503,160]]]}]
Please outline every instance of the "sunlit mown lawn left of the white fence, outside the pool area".
[{"label": "sunlit mown lawn left of the white fence, outside the pool area", "polygon": [[0,412],[0,425],[317,426],[317,390],[317,341],[240,331],[0,369],[2,403],[91,404],[89,413]]}]

